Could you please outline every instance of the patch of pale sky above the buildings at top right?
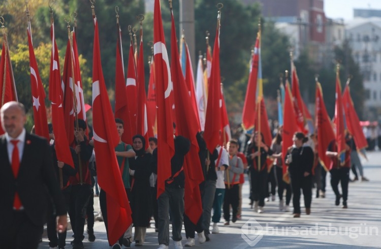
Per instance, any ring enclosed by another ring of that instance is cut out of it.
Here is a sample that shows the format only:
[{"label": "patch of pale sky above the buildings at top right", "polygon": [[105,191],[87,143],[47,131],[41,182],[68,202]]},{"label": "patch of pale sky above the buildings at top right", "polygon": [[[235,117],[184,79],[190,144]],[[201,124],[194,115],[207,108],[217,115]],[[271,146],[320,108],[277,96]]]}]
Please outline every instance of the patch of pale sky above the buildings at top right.
[{"label": "patch of pale sky above the buildings at top right", "polygon": [[324,12],[329,18],[353,19],[353,9],[381,10],[381,0],[325,0]]}]

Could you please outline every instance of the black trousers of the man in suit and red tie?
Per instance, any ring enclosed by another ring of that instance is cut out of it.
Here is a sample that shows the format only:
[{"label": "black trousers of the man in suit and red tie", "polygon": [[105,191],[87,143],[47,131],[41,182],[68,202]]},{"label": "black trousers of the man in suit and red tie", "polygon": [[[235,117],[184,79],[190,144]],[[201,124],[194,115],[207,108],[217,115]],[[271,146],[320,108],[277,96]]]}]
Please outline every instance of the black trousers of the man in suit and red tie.
[{"label": "black trousers of the man in suit and red tie", "polygon": [[37,249],[43,225],[33,224],[24,211],[13,211],[11,224],[0,224],[0,248]]}]

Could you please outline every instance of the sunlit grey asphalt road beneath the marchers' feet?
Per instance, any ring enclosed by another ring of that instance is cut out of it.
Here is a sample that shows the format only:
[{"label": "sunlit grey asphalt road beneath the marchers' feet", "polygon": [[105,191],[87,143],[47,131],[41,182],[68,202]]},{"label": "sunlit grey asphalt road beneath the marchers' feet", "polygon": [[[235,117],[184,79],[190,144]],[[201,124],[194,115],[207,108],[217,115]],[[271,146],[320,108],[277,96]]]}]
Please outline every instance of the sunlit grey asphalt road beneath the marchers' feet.
[{"label": "sunlit grey asphalt road beneath the marchers' feet", "polygon": [[[210,235],[210,241],[196,245],[199,248],[381,248],[381,152],[369,152],[368,161],[363,160],[364,174],[369,182],[351,182],[349,186],[348,208],[335,206],[335,197],[327,174],[326,198],[314,198],[311,214],[302,213],[299,219],[291,212],[280,212],[278,200],[265,204],[265,212],[255,213],[248,205],[249,186],[243,186],[242,220],[229,226],[219,223],[220,233]],[[351,173],[352,174],[352,173]],[[353,178],[353,175],[351,175]],[[94,199],[98,207],[98,198]],[[292,201],[291,201],[292,205]],[[304,212],[303,198],[301,198]],[[152,221],[153,222],[153,221]],[[153,227],[153,223],[151,226]],[[109,248],[103,222],[94,225],[96,241],[87,241],[85,248]],[[72,231],[68,231],[67,249],[72,248]],[[182,243],[186,242],[183,230]],[[135,247],[133,243],[131,247]],[[144,248],[157,248],[157,233],[147,229]],[[39,249],[49,248],[48,239],[43,237]],[[174,248],[171,240],[170,248]]]}]

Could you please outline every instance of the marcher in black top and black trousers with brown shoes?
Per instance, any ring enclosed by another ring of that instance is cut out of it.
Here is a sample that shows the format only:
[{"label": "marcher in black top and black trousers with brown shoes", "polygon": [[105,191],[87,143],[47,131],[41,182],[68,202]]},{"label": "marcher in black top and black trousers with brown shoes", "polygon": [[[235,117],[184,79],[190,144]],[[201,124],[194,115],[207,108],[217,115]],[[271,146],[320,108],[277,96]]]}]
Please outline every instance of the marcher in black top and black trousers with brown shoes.
[{"label": "marcher in black top and black trousers with brown shoes", "polygon": [[303,144],[308,138],[302,132],[296,132],[294,145],[288,149],[285,164],[289,166],[291,188],[293,191],[294,218],[300,217],[300,189],[303,190],[306,214],[311,213],[313,151]]}]

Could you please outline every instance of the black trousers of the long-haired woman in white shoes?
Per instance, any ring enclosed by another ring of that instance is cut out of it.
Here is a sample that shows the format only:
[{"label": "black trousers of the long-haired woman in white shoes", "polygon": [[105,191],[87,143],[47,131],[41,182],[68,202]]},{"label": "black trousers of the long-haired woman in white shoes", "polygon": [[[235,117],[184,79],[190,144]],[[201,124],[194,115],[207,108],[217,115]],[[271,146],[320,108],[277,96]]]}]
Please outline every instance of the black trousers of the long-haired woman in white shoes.
[{"label": "black trousers of the long-haired woman in white shoes", "polygon": [[[259,206],[265,206],[266,197],[266,184],[268,173],[267,170],[262,170],[258,172],[255,169],[250,171],[251,177],[251,197],[253,201],[259,201]],[[226,193],[225,193],[226,195]]]}]

